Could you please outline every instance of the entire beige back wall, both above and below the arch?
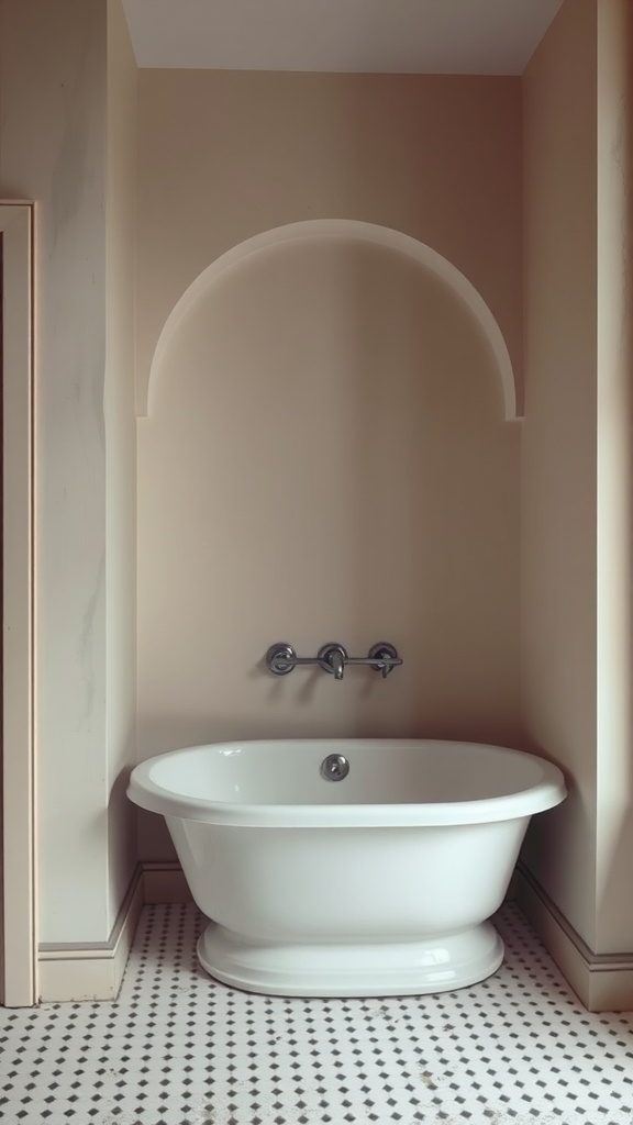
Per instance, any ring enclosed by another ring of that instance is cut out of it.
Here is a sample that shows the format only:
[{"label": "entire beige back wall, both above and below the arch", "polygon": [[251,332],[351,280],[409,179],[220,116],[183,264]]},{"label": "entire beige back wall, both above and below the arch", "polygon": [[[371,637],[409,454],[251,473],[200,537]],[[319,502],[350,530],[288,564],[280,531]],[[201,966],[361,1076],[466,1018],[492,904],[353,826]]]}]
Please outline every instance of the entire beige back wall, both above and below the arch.
[{"label": "entire beige back wall, both above and below the arch", "polygon": [[[221,252],[319,216],[447,253],[520,349],[516,81],[146,72],[140,86],[141,351]],[[518,740],[520,430],[452,290],[354,238],[260,252],[185,315],[152,403],[142,756],[257,736]],[[405,664],[342,683],[261,666],[275,640],[307,655],[332,639],[353,654],[392,640]],[[160,829],[144,818],[145,857],[169,853]]]}]

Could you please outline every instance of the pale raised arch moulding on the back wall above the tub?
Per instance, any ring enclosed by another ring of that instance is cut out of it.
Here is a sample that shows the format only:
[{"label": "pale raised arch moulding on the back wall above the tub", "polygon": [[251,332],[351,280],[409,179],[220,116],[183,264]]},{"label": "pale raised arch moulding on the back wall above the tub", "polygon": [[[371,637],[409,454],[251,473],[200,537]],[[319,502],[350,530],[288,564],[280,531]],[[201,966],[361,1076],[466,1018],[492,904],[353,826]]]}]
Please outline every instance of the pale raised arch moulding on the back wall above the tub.
[{"label": "pale raised arch moulding on the back wall above the tub", "polygon": [[182,294],[163,325],[152,358],[146,390],[141,388],[139,416],[146,417],[152,414],[154,390],[169,342],[184,316],[211,285],[226,270],[255,254],[300,240],[318,241],[324,238],[357,241],[395,251],[407,255],[422,270],[442,279],[470,309],[490,344],[501,386],[506,421],[520,417],[517,411],[515,372],[506,341],[490,308],[472,282],[448,259],[426,243],[390,227],[354,219],[309,219],[265,231],[233,246],[203,270]]}]

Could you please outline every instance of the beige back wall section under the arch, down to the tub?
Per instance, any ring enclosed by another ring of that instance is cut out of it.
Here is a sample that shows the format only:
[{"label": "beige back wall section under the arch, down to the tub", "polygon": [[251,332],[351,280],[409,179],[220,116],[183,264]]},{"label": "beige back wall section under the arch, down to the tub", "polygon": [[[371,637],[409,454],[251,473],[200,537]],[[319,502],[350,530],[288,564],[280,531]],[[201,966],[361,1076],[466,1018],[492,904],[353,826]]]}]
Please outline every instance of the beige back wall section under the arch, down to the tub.
[{"label": "beige back wall section under the arch, down to the tub", "polygon": [[[519,431],[488,340],[404,254],[297,241],[178,325],[140,424],[140,747],[516,741]],[[395,644],[387,680],[261,658]]]}]

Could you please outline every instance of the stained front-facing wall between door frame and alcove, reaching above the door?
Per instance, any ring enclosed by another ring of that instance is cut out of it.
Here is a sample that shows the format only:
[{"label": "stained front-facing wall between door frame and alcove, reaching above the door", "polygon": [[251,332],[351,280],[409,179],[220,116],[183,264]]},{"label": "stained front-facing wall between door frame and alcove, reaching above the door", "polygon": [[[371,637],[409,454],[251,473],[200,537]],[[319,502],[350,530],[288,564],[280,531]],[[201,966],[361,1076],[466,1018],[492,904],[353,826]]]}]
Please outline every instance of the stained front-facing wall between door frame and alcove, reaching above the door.
[{"label": "stained front-facing wall between door frame and alcove, reaching above the door", "polygon": [[106,14],[3,0],[1,195],[37,201],[37,800],[44,942],[108,933]]}]

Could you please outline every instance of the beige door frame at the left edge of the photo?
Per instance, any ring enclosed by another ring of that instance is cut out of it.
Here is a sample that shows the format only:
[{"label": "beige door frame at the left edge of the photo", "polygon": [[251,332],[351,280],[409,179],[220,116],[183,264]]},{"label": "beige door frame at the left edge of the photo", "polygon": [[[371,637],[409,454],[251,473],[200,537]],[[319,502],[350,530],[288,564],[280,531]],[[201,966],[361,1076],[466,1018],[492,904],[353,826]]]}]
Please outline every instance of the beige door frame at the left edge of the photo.
[{"label": "beige door frame at the left edge of the photo", "polygon": [[34,205],[2,236],[2,945],[0,1001],[37,1002],[34,691]]}]

